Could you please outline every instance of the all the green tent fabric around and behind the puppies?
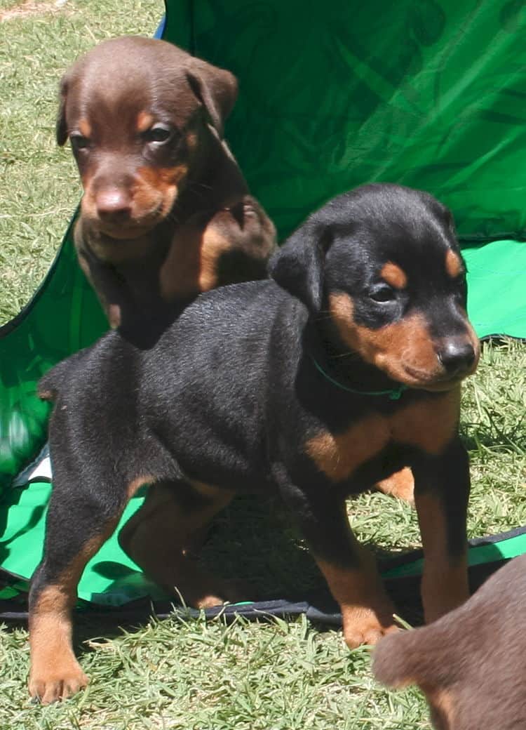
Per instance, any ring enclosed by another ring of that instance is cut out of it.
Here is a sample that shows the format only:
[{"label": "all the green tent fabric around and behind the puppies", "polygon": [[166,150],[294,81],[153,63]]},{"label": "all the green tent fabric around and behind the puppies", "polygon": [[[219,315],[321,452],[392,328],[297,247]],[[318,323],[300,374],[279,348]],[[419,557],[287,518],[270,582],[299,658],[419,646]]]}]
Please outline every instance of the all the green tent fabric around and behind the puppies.
[{"label": "all the green tent fabric around and behind the puppies", "polygon": [[[169,0],[163,37],[239,78],[226,136],[281,239],[361,183],[430,191],[455,215],[477,334],[526,338],[525,34],[517,0]],[[45,442],[36,382],[106,326],[70,228],[0,328],[0,565],[16,575],[39,561],[50,490],[11,486]],[[142,581],[114,538],[80,595],[118,602]]]}]

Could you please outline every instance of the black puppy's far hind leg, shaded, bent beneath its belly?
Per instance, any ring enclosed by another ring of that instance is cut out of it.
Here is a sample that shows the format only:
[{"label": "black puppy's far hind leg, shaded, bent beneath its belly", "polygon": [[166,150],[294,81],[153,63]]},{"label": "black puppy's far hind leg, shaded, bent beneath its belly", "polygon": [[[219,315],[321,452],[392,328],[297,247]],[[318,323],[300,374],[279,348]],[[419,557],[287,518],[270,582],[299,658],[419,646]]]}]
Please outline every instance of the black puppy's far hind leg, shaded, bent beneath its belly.
[{"label": "black puppy's far hind leg, shaded, bent beneath its belly", "polygon": [[190,554],[196,537],[232,497],[227,489],[198,482],[153,484],[120,531],[120,546],[155,583],[187,604],[206,608],[246,598],[235,584],[209,575]]}]

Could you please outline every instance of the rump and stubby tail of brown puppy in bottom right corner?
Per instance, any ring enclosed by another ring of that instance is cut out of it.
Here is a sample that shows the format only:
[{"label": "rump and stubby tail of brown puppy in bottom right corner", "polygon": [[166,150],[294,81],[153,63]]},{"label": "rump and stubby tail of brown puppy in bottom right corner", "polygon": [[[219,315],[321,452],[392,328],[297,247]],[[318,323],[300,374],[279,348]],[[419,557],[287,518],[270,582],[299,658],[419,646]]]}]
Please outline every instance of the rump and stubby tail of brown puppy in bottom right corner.
[{"label": "rump and stubby tail of brown puppy in bottom right corner", "polygon": [[437,730],[525,728],[525,608],[521,556],[431,626],[382,639],[374,673],[393,687],[419,685]]}]

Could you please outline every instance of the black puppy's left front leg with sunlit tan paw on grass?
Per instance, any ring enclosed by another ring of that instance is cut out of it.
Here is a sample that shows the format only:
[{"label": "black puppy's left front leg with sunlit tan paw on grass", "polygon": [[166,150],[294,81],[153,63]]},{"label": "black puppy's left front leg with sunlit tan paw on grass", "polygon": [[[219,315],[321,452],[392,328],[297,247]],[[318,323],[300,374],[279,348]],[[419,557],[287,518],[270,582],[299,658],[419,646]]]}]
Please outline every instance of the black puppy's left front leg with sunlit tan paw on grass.
[{"label": "black puppy's left front leg with sunlit tan paw on grass", "polygon": [[394,606],[384,590],[374,557],[352,534],[344,498],[290,485],[283,494],[330,592],[340,604],[349,648],[375,644],[395,630]]}]

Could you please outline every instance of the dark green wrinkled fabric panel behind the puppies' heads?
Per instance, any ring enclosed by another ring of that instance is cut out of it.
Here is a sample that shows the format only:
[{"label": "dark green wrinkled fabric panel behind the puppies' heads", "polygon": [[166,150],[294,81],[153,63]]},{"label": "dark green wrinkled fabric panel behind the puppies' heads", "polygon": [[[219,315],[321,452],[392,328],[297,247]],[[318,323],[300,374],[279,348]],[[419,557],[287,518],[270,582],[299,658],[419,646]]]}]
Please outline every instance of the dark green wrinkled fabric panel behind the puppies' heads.
[{"label": "dark green wrinkled fabric panel behind the puppies' heads", "polygon": [[526,234],[526,4],[169,2],[166,37],[239,78],[227,135],[280,234],[361,183],[401,183],[462,237]]}]

